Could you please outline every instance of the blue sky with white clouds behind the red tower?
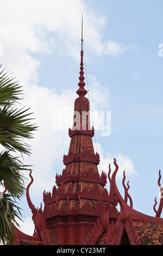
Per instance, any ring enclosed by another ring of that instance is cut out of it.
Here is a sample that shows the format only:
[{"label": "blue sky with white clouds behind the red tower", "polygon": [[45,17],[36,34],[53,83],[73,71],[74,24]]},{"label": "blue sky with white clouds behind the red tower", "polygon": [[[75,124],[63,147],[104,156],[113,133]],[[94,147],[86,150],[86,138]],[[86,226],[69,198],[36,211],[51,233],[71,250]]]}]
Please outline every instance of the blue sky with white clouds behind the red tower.
[{"label": "blue sky with white clouds behind the red tower", "polygon": [[[20,80],[23,105],[32,108],[39,124],[30,142],[33,154],[24,157],[33,164],[30,195],[35,206],[40,207],[44,189],[52,191],[55,174],[64,168],[62,156],[68,153],[68,132],[54,129],[54,113],[66,107],[73,111],[83,12],[90,103],[93,111],[111,112],[110,136],[95,133],[100,169],[108,173],[116,158],[120,174],[126,170],[134,209],[154,216],[159,169],[163,172],[163,57],[158,54],[163,43],[162,1],[0,3],[0,60]],[[123,194],[122,179],[117,177],[117,185]],[[26,198],[21,205],[24,223],[30,227]]]}]

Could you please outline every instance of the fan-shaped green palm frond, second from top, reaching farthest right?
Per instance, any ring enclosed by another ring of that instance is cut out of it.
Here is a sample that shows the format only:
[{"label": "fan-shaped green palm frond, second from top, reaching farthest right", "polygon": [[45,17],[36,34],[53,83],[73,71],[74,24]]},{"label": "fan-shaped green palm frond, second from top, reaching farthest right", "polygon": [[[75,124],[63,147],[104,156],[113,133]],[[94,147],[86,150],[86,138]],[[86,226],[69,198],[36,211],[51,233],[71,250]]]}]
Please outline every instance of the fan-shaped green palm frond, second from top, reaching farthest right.
[{"label": "fan-shaped green palm frond, second from top, reaching farthest right", "polygon": [[18,150],[21,153],[30,154],[30,147],[22,138],[33,138],[36,126],[30,124],[33,118],[29,118],[28,109],[17,109],[5,106],[0,111],[0,144],[9,150]]}]

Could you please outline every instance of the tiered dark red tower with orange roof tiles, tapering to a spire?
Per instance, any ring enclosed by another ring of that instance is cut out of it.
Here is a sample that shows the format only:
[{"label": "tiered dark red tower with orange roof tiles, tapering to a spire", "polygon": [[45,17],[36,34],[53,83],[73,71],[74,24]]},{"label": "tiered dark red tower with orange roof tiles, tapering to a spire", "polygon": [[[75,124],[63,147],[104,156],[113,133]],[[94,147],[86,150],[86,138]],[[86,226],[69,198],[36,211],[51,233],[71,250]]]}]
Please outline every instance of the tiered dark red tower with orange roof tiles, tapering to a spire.
[{"label": "tiered dark red tower with orange roof tiles, tapering to a spire", "polygon": [[[105,188],[107,176],[103,171],[99,175],[99,154],[93,149],[94,129],[90,129],[90,103],[84,88],[83,47],[80,56],[78,97],[74,102],[73,127],[68,131],[71,142],[63,160],[66,167],[61,175],[56,175],[58,188],[54,186],[52,193],[43,194],[43,216],[53,223],[61,245],[82,245],[109,196]],[[115,205],[110,207],[110,214],[117,218]]]}]

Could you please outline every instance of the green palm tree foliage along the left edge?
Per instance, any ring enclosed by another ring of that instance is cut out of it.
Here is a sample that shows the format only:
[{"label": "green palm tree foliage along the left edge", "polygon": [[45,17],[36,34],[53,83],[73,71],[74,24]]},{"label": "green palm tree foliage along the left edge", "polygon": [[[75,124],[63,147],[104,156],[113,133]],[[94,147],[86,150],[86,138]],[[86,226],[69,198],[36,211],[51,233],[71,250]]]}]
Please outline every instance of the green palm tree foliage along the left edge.
[{"label": "green palm tree foliage along the left edge", "polygon": [[[5,148],[0,152],[0,185],[7,187],[8,194],[0,198],[0,241],[4,244],[14,241],[15,217],[21,218],[16,200],[25,192],[23,171],[29,166],[20,161],[16,153],[31,154],[27,139],[33,138],[36,126],[31,124],[29,109],[17,108],[15,103],[22,100],[22,87],[15,78],[8,75],[0,65],[0,144]],[[26,141],[26,142],[24,142]]]}]

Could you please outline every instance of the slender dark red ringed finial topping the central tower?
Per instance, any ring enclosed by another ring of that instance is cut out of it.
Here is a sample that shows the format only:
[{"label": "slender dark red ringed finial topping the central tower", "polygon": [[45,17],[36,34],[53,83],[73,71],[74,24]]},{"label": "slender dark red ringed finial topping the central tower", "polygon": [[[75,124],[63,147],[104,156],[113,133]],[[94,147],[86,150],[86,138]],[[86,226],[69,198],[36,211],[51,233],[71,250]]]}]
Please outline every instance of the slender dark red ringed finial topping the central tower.
[{"label": "slender dark red ringed finial topping the central tower", "polygon": [[87,90],[84,88],[85,86],[85,82],[84,82],[84,71],[83,71],[83,13],[82,13],[82,50],[80,52],[80,56],[81,56],[81,60],[80,60],[80,76],[79,76],[79,80],[80,82],[78,83],[79,89],[77,90],[77,94],[79,95],[79,98],[82,100],[83,97],[85,97],[85,94],[87,94]]}]

